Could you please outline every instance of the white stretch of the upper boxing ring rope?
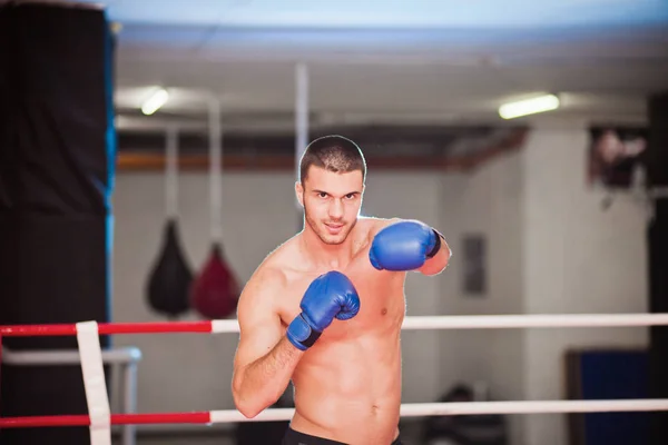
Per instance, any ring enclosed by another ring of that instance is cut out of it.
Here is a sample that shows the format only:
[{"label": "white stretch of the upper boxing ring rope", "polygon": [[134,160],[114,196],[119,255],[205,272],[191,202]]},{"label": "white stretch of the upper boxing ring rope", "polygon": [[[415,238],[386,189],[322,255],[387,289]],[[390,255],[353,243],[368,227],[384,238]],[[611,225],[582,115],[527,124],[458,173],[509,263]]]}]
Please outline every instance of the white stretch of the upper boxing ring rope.
[{"label": "white stretch of the upper boxing ring rope", "polygon": [[[236,319],[212,322],[216,334],[238,333]],[[442,315],[405,317],[402,329],[642,327],[668,325],[668,314]]]}]

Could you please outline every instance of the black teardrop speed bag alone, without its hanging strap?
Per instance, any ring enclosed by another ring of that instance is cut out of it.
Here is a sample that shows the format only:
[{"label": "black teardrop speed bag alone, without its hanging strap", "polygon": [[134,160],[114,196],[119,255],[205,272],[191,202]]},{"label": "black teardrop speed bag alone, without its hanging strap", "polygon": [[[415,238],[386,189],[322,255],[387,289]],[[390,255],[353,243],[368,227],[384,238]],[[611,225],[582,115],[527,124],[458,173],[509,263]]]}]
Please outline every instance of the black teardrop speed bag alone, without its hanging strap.
[{"label": "black teardrop speed bag alone, without its hanging strap", "polygon": [[149,306],[170,318],[190,308],[188,293],[193,274],[186,263],[178,238],[178,224],[168,219],[163,233],[160,256],[154,264],[146,289]]}]

